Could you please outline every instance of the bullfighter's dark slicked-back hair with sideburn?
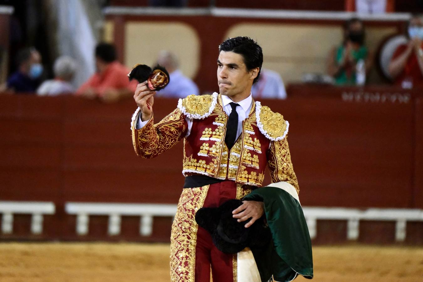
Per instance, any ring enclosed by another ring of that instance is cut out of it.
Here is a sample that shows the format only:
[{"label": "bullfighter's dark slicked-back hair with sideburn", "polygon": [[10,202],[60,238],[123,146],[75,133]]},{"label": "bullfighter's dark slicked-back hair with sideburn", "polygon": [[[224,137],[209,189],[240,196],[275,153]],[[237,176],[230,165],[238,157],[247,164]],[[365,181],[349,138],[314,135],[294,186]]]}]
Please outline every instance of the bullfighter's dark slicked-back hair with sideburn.
[{"label": "bullfighter's dark slicked-back hair with sideburn", "polygon": [[257,77],[253,80],[253,84],[258,81],[261,65],[263,64],[263,51],[256,41],[247,36],[228,38],[219,45],[219,52],[220,51],[234,52],[242,55],[248,71],[253,68],[260,68]]}]

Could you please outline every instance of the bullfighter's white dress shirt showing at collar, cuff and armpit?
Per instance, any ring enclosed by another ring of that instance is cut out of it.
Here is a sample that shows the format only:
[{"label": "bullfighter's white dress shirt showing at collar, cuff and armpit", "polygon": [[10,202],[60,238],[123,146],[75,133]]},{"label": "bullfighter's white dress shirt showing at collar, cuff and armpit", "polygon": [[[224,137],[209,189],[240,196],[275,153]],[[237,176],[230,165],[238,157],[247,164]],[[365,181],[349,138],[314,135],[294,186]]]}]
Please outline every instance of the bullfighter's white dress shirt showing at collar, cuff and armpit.
[{"label": "bullfighter's white dress shirt showing at collar, cuff and armpit", "polygon": [[[227,115],[230,115],[232,112],[232,107],[229,103],[233,101],[228,96],[224,96],[224,95],[221,95],[221,96],[222,96],[223,110],[225,111]],[[242,101],[239,101],[236,104],[239,104],[239,106],[236,107],[236,112],[238,113],[238,129],[236,130],[236,139],[238,139],[239,135],[241,135],[242,133],[242,121],[244,121],[244,119],[246,119],[247,116],[250,114],[251,107],[253,106],[253,98],[251,96],[251,93],[250,93],[250,96],[248,96]],[[187,120],[187,123],[188,123],[188,131],[187,131],[187,134],[185,135],[185,138],[187,138],[188,136],[190,136],[190,133],[191,133],[192,118],[186,117],[185,120]],[[147,123],[148,123],[148,120],[146,121],[141,120],[141,114],[140,114],[135,128],[142,129]]]}]

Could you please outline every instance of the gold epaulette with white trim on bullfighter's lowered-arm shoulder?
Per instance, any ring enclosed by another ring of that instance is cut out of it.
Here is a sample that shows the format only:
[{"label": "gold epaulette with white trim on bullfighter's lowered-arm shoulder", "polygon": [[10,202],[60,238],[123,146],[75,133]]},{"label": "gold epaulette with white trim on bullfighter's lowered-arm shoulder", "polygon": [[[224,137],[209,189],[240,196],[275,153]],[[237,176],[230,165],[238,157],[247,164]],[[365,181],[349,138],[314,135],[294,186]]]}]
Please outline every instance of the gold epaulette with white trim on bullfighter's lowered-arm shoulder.
[{"label": "gold epaulette with white trim on bullfighter's lowered-arm shoulder", "polygon": [[261,106],[260,102],[255,102],[255,116],[260,132],[272,141],[279,141],[288,134],[288,120],[283,119],[283,115],[272,112],[269,107]]}]

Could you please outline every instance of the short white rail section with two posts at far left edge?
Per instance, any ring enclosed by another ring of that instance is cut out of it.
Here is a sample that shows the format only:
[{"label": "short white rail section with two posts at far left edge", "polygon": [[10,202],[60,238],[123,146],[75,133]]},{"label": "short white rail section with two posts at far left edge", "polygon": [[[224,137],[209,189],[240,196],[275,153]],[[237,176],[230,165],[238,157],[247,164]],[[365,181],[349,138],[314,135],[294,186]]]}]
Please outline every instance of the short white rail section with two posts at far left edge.
[{"label": "short white rail section with two posts at far left edge", "polygon": [[43,232],[43,215],[54,213],[55,204],[52,202],[0,201],[1,231],[3,234],[13,233],[14,214],[31,214],[31,233],[41,234]]}]

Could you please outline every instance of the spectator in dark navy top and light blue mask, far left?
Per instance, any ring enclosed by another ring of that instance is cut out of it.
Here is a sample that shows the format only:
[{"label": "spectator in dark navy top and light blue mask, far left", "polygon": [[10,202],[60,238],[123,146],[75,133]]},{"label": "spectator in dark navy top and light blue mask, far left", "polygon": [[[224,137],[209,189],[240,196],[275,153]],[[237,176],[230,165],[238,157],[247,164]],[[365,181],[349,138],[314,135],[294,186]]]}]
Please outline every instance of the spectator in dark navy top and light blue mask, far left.
[{"label": "spectator in dark navy top and light blue mask, far left", "polygon": [[7,79],[7,89],[15,93],[35,93],[44,68],[35,48],[25,48],[17,54],[18,70]]}]

